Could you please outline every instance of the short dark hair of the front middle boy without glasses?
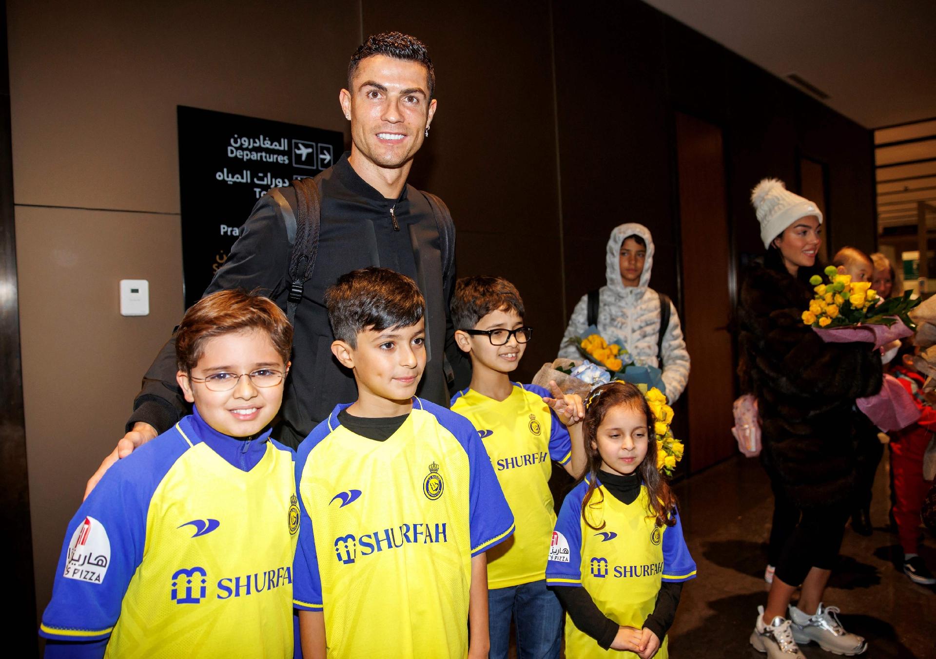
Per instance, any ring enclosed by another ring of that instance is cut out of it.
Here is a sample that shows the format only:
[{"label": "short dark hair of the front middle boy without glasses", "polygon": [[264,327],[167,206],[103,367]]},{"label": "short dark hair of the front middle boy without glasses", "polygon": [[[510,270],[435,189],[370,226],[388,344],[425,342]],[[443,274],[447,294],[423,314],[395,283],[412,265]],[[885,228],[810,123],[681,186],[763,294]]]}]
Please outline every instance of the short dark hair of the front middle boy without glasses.
[{"label": "short dark hair of the front middle boy without glasses", "polygon": [[358,347],[358,333],[411,327],[423,317],[426,300],[416,281],[386,267],[365,267],[342,275],[325,292],[335,338]]}]

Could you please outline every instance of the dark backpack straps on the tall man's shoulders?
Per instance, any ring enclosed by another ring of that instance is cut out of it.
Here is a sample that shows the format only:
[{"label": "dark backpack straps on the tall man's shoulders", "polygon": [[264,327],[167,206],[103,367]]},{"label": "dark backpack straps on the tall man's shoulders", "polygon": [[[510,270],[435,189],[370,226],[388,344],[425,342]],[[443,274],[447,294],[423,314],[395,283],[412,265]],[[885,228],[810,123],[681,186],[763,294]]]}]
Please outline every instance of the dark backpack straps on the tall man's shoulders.
[{"label": "dark backpack straps on the tall man's shoulders", "polygon": [[[315,256],[318,252],[318,233],[321,228],[321,198],[314,179],[294,179],[296,190],[296,234],[289,254],[289,295],[286,297],[286,317],[290,323],[296,320],[296,308],[302,301],[302,289],[312,277]],[[420,191],[421,192],[421,191]],[[455,250],[455,224],[445,202],[431,193],[422,193],[429,202],[435,225],[439,230],[442,250],[442,280],[448,279],[449,267]],[[288,232],[287,232],[288,233]]]}]

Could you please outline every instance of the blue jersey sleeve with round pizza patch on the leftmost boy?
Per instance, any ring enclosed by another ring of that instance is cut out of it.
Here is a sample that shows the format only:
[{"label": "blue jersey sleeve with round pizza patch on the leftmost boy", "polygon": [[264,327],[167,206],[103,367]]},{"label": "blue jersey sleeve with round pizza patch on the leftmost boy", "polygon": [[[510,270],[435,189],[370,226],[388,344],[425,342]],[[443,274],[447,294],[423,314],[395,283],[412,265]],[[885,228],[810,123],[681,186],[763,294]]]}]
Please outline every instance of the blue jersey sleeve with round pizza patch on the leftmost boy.
[{"label": "blue jersey sleeve with round pizza patch on the leftmost boy", "polygon": [[[40,636],[76,642],[80,656],[79,649],[95,652],[89,641],[110,638],[143,559],[150,499],[186,448],[170,429],[111,466],[84,500],[68,523]],[[60,650],[51,644],[49,656]]]}]

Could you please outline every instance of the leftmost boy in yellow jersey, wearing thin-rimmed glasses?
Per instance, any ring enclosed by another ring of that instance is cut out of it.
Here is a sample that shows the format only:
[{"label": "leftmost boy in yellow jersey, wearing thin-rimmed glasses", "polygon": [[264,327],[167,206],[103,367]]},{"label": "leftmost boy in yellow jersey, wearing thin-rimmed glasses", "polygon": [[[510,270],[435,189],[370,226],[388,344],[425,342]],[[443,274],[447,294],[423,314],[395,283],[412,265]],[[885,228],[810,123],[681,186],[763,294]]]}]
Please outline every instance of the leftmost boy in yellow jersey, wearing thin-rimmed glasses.
[{"label": "leftmost boy in yellow jersey, wearing thin-rimmed glasses", "polygon": [[190,416],[104,475],[68,525],[46,657],[293,656],[294,453],[270,437],[292,327],[203,297],[176,335]]}]

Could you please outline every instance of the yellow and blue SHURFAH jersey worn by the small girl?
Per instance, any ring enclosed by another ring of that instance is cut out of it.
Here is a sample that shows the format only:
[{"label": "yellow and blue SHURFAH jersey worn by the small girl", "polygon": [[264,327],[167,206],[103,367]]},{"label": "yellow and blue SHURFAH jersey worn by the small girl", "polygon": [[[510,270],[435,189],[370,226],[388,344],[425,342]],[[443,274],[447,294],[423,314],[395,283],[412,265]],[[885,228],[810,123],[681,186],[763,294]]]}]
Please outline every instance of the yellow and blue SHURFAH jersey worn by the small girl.
[{"label": "yellow and blue SHURFAH jersey worn by the small girl", "polygon": [[[598,526],[605,522],[598,531],[582,519],[587,490],[588,482],[583,481],[563,500],[549,544],[546,581],[550,586],[584,587],[608,618],[640,629],[653,612],[663,580],[695,578],[695,561],[682,537],[679,517],[673,526],[657,526],[655,518],[648,518],[646,487],[633,503],[625,504],[599,481],[589,503],[589,521]],[[661,639],[655,658],[666,659],[667,648],[667,638]],[[603,650],[568,615],[565,652],[577,659],[637,656]]]}]

